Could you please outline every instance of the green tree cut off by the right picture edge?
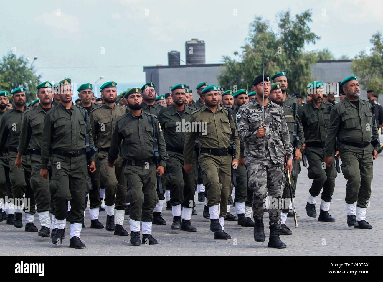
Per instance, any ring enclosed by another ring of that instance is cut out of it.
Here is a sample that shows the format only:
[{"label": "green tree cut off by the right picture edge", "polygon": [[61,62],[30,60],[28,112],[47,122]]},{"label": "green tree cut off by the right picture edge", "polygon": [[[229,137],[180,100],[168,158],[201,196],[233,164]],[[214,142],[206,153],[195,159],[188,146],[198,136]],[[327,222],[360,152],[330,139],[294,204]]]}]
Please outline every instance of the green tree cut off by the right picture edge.
[{"label": "green tree cut off by the right picture edge", "polygon": [[358,76],[364,89],[372,89],[377,95],[383,94],[383,38],[380,31],[370,40],[373,47],[360,51],[352,61],[351,68]]}]

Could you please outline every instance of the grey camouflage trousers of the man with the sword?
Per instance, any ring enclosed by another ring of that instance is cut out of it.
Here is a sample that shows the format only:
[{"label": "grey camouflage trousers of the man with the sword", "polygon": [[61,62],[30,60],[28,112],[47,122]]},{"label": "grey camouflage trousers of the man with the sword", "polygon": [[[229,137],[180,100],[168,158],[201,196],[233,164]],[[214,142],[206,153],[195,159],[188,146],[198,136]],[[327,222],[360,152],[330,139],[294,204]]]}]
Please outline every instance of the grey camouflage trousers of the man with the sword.
[{"label": "grey camouflage trousers of the man with the sword", "polygon": [[283,173],[283,164],[274,164],[271,160],[268,164],[258,159],[246,158],[246,167],[249,174],[249,187],[253,189],[254,218],[262,218],[264,215],[264,203],[267,192],[270,197],[268,208],[269,225],[281,223],[281,211],[283,205],[283,189],[286,177]]}]

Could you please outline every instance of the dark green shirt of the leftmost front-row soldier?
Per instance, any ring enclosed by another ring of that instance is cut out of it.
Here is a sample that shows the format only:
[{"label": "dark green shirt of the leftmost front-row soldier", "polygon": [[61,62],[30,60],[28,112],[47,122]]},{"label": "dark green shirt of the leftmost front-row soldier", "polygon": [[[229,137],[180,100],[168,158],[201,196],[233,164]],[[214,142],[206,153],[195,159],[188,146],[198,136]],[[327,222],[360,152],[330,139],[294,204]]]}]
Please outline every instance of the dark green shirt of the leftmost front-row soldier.
[{"label": "dark green shirt of the leftmost front-row soldier", "polygon": [[[41,139],[41,169],[46,169],[49,152],[53,149],[79,151],[85,149],[85,109],[74,105],[69,110],[61,103],[49,110],[44,117],[43,137]],[[89,146],[92,148],[92,128],[88,118]]]}]

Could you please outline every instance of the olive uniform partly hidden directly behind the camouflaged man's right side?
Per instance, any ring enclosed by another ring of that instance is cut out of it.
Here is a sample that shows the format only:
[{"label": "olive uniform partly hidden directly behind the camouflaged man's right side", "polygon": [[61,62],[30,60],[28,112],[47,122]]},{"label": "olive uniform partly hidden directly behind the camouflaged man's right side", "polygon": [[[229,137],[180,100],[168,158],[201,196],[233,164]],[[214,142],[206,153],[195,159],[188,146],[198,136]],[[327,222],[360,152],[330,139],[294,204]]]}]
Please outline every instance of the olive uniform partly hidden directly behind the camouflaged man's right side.
[{"label": "olive uniform partly hidden directly behind the camouflaged man's right side", "polygon": [[[287,99],[286,99],[287,100]],[[296,104],[298,107],[298,103]],[[295,118],[294,118],[294,105],[293,107],[287,106],[283,101],[281,102],[281,107],[283,109],[283,112],[285,113],[286,117],[286,124],[288,127],[288,132],[290,135],[290,143],[291,146],[293,146],[294,150],[295,149],[300,149],[302,151],[302,146],[304,143],[304,137],[303,137],[303,128],[302,128],[302,123],[298,115],[295,113]],[[294,142],[294,123],[296,123],[296,136],[298,136],[299,141],[297,144]],[[290,181],[291,181],[291,190],[293,191],[293,198],[295,198],[295,190],[296,190],[296,182],[298,180],[298,174],[301,172],[301,164],[299,159],[295,160],[294,159],[294,151],[293,151],[293,171],[295,171],[295,175],[291,174],[290,175]],[[288,186],[288,179],[286,177],[286,183],[285,183],[285,188],[283,189],[283,198],[284,199],[290,199],[290,188]],[[285,201],[286,202],[286,201]],[[282,213],[288,213],[288,207],[283,207]],[[284,222],[282,222],[284,223]]]}]

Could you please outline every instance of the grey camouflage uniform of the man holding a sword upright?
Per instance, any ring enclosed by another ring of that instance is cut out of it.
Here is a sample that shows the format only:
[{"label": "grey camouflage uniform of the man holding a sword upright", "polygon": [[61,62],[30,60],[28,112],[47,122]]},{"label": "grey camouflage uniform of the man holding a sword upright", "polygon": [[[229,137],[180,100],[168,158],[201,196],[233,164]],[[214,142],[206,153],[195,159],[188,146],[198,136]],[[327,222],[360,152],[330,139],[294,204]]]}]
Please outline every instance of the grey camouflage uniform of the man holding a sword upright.
[{"label": "grey camouflage uniform of the man holding a sword upright", "polygon": [[277,104],[268,101],[265,107],[265,121],[267,133],[264,138],[257,138],[258,128],[262,126],[262,107],[257,99],[242,105],[237,113],[237,128],[239,138],[244,143],[244,155],[247,172],[249,173],[249,187],[254,189],[253,211],[254,218],[263,217],[262,204],[269,193],[272,203],[269,207],[269,225],[281,222],[281,205],[275,208],[273,199],[282,198],[285,186],[283,162],[286,144],[288,159],[292,158],[293,148],[283,110]]}]

